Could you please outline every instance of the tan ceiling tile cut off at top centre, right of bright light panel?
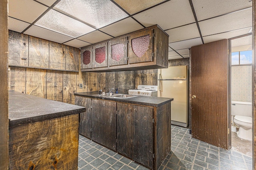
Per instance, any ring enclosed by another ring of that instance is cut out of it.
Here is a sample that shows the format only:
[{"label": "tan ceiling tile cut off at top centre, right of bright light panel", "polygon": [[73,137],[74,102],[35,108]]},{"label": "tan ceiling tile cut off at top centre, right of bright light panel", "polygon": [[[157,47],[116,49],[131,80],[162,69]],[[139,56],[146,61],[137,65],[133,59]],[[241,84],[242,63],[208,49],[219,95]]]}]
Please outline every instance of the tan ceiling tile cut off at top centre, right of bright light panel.
[{"label": "tan ceiling tile cut off at top centre, right of bright light panel", "polygon": [[[165,0],[114,0],[130,15],[145,10],[151,6],[164,2]],[[131,5],[134,4],[134,5]]]}]

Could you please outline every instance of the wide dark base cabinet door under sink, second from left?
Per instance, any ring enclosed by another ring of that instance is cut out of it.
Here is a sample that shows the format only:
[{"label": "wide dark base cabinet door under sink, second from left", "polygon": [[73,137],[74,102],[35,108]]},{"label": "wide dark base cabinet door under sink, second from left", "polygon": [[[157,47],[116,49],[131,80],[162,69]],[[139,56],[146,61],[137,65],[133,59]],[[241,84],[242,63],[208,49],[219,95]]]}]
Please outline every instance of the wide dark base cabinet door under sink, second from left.
[{"label": "wide dark base cabinet door under sink, second from left", "polygon": [[92,140],[116,150],[116,102],[92,99]]}]

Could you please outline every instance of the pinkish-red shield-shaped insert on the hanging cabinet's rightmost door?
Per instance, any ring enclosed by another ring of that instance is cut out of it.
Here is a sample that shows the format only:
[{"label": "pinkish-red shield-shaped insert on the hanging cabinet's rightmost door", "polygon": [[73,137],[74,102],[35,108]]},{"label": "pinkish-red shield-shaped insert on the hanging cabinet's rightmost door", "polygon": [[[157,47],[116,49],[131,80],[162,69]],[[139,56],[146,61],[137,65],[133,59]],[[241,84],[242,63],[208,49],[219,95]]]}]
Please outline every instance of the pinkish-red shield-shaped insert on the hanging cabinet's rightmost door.
[{"label": "pinkish-red shield-shaped insert on the hanging cabinet's rightmost door", "polygon": [[148,50],[149,42],[149,35],[132,39],[132,51],[137,57],[142,57],[142,55]]}]

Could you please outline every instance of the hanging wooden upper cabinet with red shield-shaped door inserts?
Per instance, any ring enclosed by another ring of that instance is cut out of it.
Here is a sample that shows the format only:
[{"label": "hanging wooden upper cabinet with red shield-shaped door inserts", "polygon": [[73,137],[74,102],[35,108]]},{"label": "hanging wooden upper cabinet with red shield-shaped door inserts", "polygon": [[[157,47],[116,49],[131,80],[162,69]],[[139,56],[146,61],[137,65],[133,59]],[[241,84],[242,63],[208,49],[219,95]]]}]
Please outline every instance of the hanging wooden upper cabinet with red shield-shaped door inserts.
[{"label": "hanging wooden upper cabinet with red shield-shaped door inserts", "polygon": [[96,45],[82,47],[82,60],[84,51],[89,47],[93,48],[93,65],[92,68],[89,68],[84,67],[84,63],[81,63],[81,71],[103,72],[167,68],[168,37],[168,34],[155,25]]}]

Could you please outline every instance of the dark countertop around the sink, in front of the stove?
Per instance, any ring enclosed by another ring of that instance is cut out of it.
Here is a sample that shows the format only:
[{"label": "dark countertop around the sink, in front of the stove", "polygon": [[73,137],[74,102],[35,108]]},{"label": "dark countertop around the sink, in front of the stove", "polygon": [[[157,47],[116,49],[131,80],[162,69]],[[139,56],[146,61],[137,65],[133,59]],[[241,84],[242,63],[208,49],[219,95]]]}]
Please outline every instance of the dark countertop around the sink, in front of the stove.
[{"label": "dark countertop around the sink, in front of the stove", "polygon": [[86,93],[75,93],[75,96],[90,97],[94,99],[104,99],[104,100],[110,100],[110,101],[118,101],[118,102],[153,106],[153,107],[159,107],[161,105],[164,105],[165,103],[173,101],[173,98],[150,97],[150,96],[138,96],[138,97],[132,97],[128,99],[116,99],[116,98],[110,98],[110,97],[104,97],[104,96],[102,97],[93,96],[97,94],[99,94],[99,92],[86,92]]}]

